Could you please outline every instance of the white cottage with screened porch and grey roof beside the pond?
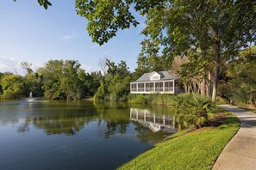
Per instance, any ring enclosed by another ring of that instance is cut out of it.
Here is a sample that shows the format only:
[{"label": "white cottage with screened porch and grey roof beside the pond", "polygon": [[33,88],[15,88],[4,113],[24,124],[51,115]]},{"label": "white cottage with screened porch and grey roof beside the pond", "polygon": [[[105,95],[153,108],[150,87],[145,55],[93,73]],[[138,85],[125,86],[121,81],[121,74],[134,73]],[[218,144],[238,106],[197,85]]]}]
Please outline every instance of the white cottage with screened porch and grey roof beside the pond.
[{"label": "white cottage with screened porch and grey roof beside the pond", "polygon": [[178,94],[178,76],[168,71],[153,71],[140,76],[135,82],[130,82],[131,94]]}]

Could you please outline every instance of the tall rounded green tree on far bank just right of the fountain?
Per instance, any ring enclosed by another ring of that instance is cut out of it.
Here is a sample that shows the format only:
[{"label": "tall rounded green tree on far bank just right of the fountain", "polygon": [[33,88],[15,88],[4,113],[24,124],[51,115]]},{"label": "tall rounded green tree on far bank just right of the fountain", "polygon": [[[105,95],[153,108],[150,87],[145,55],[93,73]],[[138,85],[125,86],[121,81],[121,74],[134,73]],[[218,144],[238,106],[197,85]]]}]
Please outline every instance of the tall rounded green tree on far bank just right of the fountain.
[{"label": "tall rounded green tree on far bank just right of the fountain", "polygon": [[[38,70],[43,77],[47,99],[81,100],[84,97],[84,82],[78,76],[80,64],[75,60],[50,60]],[[80,73],[81,74],[81,73]]]}]

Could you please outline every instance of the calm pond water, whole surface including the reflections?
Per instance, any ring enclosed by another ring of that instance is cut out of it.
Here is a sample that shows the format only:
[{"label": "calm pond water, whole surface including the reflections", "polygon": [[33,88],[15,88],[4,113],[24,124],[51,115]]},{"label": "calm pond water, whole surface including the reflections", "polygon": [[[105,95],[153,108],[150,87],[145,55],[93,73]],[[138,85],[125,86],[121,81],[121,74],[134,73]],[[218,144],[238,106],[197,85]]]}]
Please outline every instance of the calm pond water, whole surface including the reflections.
[{"label": "calm pond water, whole surface including the reflections", "polygon": [[165,110],[0,101],[0,169],[115,169],[173,132]]}]

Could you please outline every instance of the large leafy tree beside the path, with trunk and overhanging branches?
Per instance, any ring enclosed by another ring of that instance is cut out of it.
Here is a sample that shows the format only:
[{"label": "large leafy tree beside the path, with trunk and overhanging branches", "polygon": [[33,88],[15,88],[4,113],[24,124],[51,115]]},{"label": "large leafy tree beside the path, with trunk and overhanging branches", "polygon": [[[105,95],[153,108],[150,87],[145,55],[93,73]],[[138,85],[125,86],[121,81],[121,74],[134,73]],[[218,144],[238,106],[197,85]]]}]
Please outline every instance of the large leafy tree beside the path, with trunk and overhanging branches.
[{"label": "large leafy tree beside the path, with trunk and overhanging branches", "polygon": [[[222,62],[233,56],[240,46],[255,39],[253,1],[77,1],[78,15],[89,21],[87,30],[94,42],[103,45],[116,36],[118,29],[136,26],[138,21],[129,11],[134,8],[147,14],[143,30],[150,39],[143,43],[145,52],[156,55],[163,46],[163,54],[185,54],[199,48],[201,57],[214,51],[215,81],[212,99],[215,100],[219,69]],[[243,9],[247,10],[243,10]],[[188,27],[189,26],[189,27]],[[226,53],[227,55],[222,55]],[[226,58],[225,58],[226,57]],[[208,58],[206,60],[209,61]],[[204,76],[205,77],[205,76]]]}]

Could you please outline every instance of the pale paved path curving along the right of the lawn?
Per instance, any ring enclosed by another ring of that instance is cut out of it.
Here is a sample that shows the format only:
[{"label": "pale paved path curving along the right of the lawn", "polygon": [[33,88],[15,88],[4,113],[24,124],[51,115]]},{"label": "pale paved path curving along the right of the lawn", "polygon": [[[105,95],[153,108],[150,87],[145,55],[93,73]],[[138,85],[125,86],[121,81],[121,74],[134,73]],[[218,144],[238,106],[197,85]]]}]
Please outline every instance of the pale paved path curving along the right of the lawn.
[{"label": "pale paved path curving along the right of the lawn", "polygon": [[256,114],[222,105],[240,119],[240,130],[222,150],[213,170],[256,169]]}]

